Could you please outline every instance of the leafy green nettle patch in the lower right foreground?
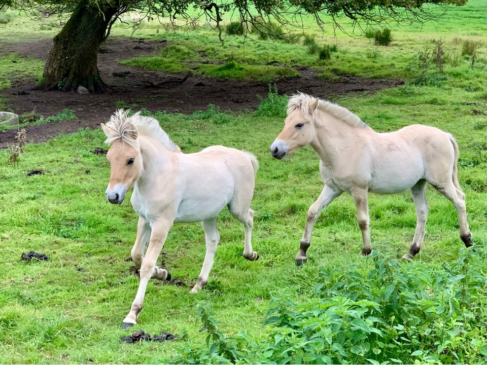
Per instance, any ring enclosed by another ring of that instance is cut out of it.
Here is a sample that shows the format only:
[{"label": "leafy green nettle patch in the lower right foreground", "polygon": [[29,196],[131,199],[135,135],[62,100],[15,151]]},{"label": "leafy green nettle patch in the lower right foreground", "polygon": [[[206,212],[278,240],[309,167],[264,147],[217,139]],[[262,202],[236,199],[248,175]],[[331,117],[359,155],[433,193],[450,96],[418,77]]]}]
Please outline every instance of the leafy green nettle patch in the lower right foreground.
[{"label": "leafy green nettle patch in the lower right foreground", "polygon": [[323,270],[305,303],[274,299],[264,338],[225,336],[198,310],[207,348],[173,363],[479,363],[487,356],[485,252],[462,248],[442,267],[372,253],[372,268]]}]

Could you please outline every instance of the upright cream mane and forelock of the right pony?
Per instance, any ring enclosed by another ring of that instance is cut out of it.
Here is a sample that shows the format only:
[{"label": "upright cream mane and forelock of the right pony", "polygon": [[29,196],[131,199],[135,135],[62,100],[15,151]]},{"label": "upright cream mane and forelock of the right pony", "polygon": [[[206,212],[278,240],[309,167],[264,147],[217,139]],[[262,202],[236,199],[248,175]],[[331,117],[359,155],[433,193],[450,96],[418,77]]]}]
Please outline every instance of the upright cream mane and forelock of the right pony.
[{"label": "upright cream mane and forelock of the right pony", "polygon": [[[288,102],[287,115],[290,115],[292,112],[295,111],[295,109],[300,109],[304,119],[314,121],[313,116],[309,113],[309,104],[316,100],[318,100],[318,105],[316,107],[317,109],[320,109],[325,113],[331,114],[353,127],[368,128],[365,122],[363,122],[358,116],[349,111],[349,109],[334,104],[330,101],[317,99],[303,93],[291,96]],[[315,123],[317,123],[318,125],[320,124],[319,121],[315,121]]]}]

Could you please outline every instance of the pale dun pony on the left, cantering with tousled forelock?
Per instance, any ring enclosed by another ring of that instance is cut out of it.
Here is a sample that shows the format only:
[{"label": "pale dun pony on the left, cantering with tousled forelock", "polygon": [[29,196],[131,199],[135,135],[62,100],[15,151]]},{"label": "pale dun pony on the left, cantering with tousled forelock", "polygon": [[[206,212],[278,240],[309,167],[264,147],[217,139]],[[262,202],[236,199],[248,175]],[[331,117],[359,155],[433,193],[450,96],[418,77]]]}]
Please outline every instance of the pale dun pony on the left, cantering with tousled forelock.
[{"label": "pale dun pony on the left, cantering with tousled forelock", "polygon": [[129,117],[122,109],[101,127],[106,143],[112,144],[107,153],[111,172],[105,195],[111,203],[121,204],[133,186],[130,202],[139,215],[131,257],[141,268],[141,281],[122,328],[136,323],[149,279],[170,279],[156,260],[173,223],[201,221],[203,226],[206,254],[192,293],[208,280],[220,239],[216,216],[225,206],[245,228],[243,257],[259,258],[251,245],[254,211],[250,204],[258,168],[254,155],[223,146],[181,153],[157,120],[138,113]]}]

